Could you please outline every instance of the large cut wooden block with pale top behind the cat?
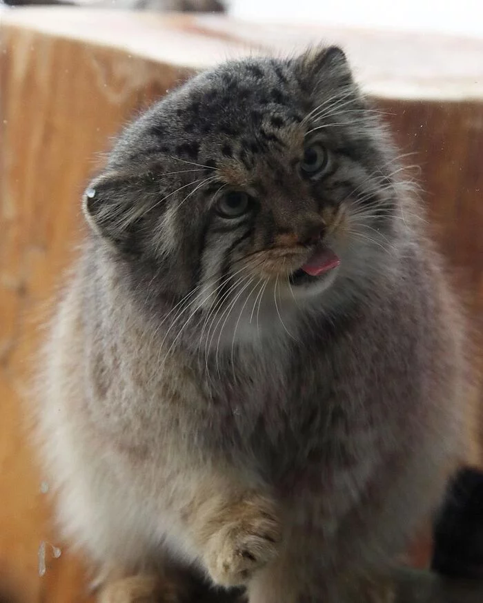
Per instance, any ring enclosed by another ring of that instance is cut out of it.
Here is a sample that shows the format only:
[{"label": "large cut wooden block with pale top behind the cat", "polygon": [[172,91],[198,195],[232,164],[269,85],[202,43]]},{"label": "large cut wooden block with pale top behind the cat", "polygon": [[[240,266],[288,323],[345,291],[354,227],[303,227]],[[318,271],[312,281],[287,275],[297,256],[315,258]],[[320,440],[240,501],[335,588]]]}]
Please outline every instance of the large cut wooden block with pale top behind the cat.
[{"label": "large cut wooden block with pale top behind the cat", "polygon": [[[22,424],[39,325],[81,236],[88,177],[119,127],[195,70],[319,41],[344,45],[403,152],[415,152],[408,161],[422,167],[430,226],[482,343],[482,40],[117,10],[0,10],[0,574],[25,603],[86,600],[83,566],[52,529],[50,484]],[[413,562],[424,564],[426,553],[417,546]]]}]

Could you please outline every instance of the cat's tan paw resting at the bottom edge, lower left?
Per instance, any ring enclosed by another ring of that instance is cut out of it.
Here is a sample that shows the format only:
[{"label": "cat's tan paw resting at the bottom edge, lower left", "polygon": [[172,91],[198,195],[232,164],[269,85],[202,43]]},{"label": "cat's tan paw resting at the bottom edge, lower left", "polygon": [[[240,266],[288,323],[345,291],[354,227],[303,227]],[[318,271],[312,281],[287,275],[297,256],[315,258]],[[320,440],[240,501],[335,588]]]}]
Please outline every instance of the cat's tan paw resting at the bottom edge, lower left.
[{"label": "cat's tan paw resting at the bottom edge, lower left", "polygon": [[130,576],[109,582],[97,596],[97,603],[177,603],[174,589],[167,584],[161,589],[159,580],[150,575]]}]

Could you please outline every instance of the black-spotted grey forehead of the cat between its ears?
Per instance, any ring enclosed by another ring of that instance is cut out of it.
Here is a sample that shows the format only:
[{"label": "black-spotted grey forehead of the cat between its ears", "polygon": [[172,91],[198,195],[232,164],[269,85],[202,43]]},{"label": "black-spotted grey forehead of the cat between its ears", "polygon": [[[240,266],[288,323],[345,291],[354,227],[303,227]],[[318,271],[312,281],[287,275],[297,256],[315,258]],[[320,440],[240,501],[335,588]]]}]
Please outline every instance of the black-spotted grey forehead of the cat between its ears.
[{"label": "black-spotted grey forehead of the cat between its ears", "polygon": [[290,62],[275,60],[225,63],[199,74],[128,127],[111,163],[161,154],[214,167],[221,156],[244,161],[244,152],[278,141],[293,147],[297,139],[299,146],[295,130],[302,131],[306,110],[293,79]]}]

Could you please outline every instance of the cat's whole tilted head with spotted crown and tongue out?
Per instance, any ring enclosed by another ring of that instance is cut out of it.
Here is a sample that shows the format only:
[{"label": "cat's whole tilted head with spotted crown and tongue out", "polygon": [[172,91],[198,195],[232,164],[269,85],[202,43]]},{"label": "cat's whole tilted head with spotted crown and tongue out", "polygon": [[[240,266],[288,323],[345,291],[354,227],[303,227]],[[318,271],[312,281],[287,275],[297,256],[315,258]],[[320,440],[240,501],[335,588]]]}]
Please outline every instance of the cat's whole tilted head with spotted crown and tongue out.
[{"label": "cat's whole tilted head with spotted crown and tongue out", "polygon": [[132,123],[83,207],[145,298],[277,320],[367,286],[390,253],[392,159],[342,50],[244,59]]}]

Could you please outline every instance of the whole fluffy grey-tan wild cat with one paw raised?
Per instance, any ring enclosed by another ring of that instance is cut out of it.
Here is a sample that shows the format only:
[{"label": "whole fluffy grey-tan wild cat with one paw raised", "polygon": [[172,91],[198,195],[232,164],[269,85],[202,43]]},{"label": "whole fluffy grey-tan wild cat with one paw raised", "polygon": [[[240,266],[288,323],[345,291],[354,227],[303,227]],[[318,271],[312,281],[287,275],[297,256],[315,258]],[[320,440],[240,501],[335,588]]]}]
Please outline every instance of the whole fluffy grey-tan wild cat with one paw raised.
[{"label": "whole fluffy grey-tan wild cat with one paw raised", "polygon": [[[374,573],[463,454],[466,379],[402,174],[333,47],[199,74],[121,134],[39,405],[101,601],[186,571],[250,603],[391,600]],[[321,244],[340,263],[307,275]]]}]

